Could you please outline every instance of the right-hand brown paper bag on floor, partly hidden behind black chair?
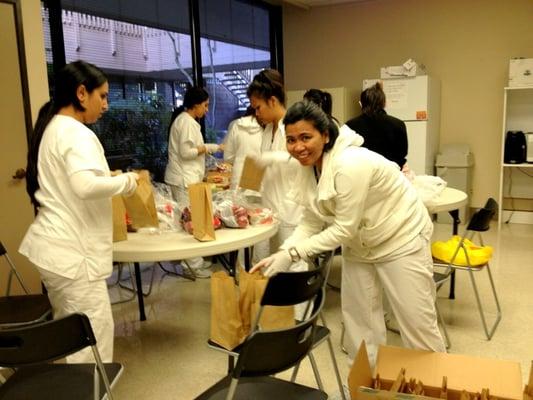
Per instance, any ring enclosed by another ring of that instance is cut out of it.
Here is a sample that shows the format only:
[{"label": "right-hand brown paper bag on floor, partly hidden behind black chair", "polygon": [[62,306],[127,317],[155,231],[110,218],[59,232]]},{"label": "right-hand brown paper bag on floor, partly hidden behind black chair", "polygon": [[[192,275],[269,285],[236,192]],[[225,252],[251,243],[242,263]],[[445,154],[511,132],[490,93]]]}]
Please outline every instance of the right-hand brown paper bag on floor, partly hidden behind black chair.
[{"label": "right-hand brown paper bag on floor, partly hidden behind black chair", "polygon": [[[255,318],[259,307],[261,307],[261,297],[265,292],[268,278],[260,274],[253,274],[254,302],[252,304],[251,315]],[[253,321],[252,321],[253,323]],[[261,314],[259,325],[261,329],[282,329],[294,326],[294,306],[277,307],[266,306]]]}]

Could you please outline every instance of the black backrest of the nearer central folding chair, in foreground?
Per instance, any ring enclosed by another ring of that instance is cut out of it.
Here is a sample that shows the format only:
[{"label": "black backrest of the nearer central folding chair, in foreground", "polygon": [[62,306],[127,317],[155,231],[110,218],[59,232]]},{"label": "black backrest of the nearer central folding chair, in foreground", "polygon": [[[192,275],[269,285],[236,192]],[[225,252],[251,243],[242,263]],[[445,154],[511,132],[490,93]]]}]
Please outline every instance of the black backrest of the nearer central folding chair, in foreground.
[{"label": "black backrest of the nearer central folding chair, in foreground", "polygon": [[318,290],[313,314],[297,325],[255,331],[246,338],[233,377],[266,376],[285,371],[302,360],[313,346],[314,327],[324,305],[325,287]]}]

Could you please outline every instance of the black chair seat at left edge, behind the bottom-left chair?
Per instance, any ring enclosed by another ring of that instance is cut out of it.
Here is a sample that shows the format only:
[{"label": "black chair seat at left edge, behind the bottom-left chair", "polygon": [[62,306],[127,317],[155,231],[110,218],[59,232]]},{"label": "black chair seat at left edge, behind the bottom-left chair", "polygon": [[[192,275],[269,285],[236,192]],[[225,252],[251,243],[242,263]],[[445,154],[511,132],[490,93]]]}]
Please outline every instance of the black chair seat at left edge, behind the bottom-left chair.
[{"label": "black chair seat at left edge, behind the bottom-left chair", "polygon": [[52,307],[45,294],[0,297],[0,325],[16,325],[44,320]]}]

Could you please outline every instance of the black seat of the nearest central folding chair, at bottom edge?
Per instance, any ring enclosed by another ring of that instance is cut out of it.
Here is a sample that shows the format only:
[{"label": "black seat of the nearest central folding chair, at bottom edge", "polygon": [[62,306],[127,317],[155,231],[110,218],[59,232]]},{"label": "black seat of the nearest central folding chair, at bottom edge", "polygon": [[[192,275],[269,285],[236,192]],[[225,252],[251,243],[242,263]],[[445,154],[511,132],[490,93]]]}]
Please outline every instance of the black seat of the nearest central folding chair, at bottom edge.
[{"label": "black seat of the nearest central folding chair, at bottom edge", "polygon": [[[196,400],[225,399],[231,376],[226,376]],[[326,400],[328,395],[321,390],[285,381],[271,376],[257,378],[240,378],[235,400],[272,400],[272,399]]]}]

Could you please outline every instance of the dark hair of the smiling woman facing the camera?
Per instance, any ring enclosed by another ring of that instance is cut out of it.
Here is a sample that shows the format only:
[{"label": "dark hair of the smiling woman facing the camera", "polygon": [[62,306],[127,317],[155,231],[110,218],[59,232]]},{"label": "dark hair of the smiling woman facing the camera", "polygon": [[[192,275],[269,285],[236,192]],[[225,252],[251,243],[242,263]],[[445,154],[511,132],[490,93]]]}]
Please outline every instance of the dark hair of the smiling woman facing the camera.
[{"label": "dark hair of the smiling woman facing the camera", "polygon": [[331,116],[311,101],[299,101],[289,107],[283,124],[287,126],[298,121],[307,121],[320,133],[327,133],[329,141],[324,144],[324,152],[331,150],[339,136],[339,128]]}]

